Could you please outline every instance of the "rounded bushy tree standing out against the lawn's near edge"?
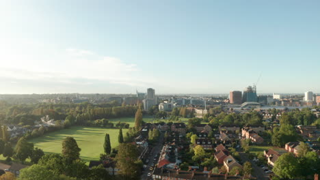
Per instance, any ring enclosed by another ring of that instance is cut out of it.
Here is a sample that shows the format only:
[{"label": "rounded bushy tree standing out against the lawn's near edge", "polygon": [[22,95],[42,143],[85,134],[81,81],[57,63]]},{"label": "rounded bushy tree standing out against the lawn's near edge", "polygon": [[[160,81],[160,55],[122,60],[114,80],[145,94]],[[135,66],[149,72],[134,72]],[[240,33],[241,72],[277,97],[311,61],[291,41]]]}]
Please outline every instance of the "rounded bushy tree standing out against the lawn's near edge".
[{"label": "rounded bushy tree standing out against the lawn's near edge", "polygon": [[77,141],[72,137],[66,137],[62,142],[62,156],[66,157],[69,162],[79,159],[81,149]]}]

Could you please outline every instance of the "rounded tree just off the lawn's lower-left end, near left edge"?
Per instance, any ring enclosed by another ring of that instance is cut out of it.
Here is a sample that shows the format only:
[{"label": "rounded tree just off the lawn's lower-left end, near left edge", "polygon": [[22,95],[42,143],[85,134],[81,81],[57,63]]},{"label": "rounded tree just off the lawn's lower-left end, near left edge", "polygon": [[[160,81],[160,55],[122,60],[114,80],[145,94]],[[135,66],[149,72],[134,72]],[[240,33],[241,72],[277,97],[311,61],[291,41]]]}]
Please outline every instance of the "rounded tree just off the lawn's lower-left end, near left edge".
[{"label": "rounded tree just off the lawn's lower-left end, near left edge", "polygon": [[14,149],[14,159],[24,162],[27,157],[31,156],[33,149],[34,143],[27,142],[25,137],[20,138]]}]

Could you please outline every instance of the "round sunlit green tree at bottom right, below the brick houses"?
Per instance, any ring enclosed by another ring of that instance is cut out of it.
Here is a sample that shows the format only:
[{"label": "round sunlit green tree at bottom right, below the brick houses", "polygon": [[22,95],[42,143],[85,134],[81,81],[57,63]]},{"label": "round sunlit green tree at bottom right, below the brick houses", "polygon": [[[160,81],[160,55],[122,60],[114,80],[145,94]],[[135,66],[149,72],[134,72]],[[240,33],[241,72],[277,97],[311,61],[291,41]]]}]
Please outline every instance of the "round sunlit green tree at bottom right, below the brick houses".
[{"label": "round sunlit green tree at bottom right, below the brick houses", "polygon": [[284,153],[280,155],[274,164],[274,174],[283,179],[293,179],[297,177],[298,161],[293,153]]}]

